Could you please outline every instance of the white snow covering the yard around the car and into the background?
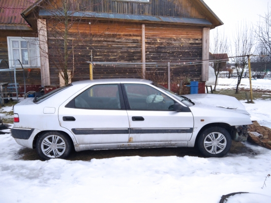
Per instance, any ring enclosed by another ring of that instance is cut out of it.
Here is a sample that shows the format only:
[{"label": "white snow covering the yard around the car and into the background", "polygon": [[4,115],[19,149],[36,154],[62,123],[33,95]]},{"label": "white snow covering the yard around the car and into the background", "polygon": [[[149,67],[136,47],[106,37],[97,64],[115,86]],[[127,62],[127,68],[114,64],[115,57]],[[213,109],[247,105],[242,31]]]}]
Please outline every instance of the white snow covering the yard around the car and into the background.
[{"label": "white snow covering the yard around the car and into the background", "polygon": [[[234,88],[235,81],[220,79],[218,89]],[[248,79],[242,81],[242,88],[249,88]],[[270,91],[271,80],[255,80],[253,88]],[[241,102],[252,120],[271,128],[270,100]],[[222,195],[232,192],[262,195],[250,194],[246,201],[232,198],[231,202],[271,202],[271,178],[263,187],[265,177],[271,174],[271,150],[245,145],[251,153],[223,158],[124,156],[30,161],[21,159],[18,151],[23,147],[10,134],[0,134],[0,202],[218,203]]]}]

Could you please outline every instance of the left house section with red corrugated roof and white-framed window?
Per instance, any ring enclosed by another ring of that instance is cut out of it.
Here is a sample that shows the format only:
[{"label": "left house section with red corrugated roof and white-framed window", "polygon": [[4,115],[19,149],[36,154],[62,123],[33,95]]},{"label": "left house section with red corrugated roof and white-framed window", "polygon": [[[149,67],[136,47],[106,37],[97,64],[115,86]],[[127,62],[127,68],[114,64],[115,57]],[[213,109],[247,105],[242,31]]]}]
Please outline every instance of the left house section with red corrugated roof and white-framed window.
[{"label": "left house section with red corrugated roof and white-framed window", "polygon": [[[39,46],[31,46],[31,42],[37,39],[38,34],[21,17],[21,13],[32,6],[35,0],[1,0],[0,1],[0,83],[14,82],[13,72],[1,72],[3,69],[9,69],[20,66],[14,58],[20,59],[24,67],[27,90],[38,90],[41,86],[41,71]],[[29,46],[30,44],[30,46]],[[29,56],[33,55],[33,58]],[[7,63],[6,63],[7,61]],[[31,73],[28,74],[28,69]],[[17,82],[23,85],[23,72],[18,71]]]}]

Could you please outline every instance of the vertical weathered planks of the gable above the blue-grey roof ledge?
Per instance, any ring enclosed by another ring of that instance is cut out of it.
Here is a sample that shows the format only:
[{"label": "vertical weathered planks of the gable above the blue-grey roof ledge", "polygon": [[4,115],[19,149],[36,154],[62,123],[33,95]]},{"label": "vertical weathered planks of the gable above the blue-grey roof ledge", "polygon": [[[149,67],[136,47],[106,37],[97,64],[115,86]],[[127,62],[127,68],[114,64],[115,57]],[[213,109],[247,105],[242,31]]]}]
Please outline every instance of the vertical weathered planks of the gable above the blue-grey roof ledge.
[{"label": "vertical weathered planks of the gable above the blue-grey roof ledge", "polygon": [[114,0],[76,2],[79,9],[88,8],[90,12],[205,18],[191,0],[149,0],[149,3]]}]

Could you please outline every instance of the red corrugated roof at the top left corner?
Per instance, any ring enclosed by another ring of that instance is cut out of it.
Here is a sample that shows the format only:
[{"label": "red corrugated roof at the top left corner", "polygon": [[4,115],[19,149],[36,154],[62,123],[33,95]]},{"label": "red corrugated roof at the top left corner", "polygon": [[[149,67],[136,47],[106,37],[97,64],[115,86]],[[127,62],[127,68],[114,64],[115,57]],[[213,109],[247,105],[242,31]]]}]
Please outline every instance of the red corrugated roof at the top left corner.
[{"label": "red corrugated roof at the top left corner", "polygon": [[21,17],[21,13],[35,3],[35,0],[1,0],[0,24],[21,24],[27,22]]}]

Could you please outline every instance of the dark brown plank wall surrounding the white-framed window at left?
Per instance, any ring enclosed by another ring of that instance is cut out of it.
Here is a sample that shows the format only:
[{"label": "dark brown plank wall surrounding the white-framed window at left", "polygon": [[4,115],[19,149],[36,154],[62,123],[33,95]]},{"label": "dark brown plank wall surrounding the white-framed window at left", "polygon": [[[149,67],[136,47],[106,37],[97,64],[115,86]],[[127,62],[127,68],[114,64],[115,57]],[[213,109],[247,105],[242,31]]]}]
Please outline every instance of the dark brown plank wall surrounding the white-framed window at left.
[{"label": "dark brown plank wall surrounding the white-framed window at left", "polygon": [[[7,37],[37,37],[34,32],[30,31],[22,31],[22,30],[1,30],[0,35],[0,59],[9,60],[8,55],[8,41]],[[9,67],[6,65],[4,61],[0,63],[0,69],[8,69]],[[25,68],[25,82],[26,85],[33,85],[33,84],[41,84],[41,71],[39,68],[31,68],[31,73],[29,74],[29,78],[27,79],[27,69]],[[14,72],[11,72],[12,81],[14,82]],[[23,72],[17,71],[16,72],[16,79],[17,83],[20,85],[23,84]],[[0,82],[8,82],[10,83],[10,74],[9,72],[0,72]]]}]

